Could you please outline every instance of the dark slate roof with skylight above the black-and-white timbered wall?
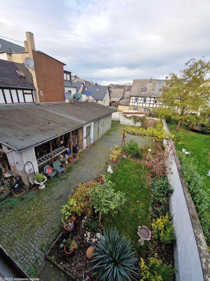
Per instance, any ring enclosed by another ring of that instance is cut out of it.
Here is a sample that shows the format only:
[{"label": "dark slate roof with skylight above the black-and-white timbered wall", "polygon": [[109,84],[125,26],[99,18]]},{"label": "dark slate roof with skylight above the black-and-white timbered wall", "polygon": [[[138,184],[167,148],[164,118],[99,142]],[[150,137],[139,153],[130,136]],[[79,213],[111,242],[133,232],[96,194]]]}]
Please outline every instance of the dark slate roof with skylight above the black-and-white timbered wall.
[{"label": "dark slate roof with skylight above the black-and-white timbered wall", "polygon": [[[16,70],[22,71],[25,77],[20,77]],[[0,59],[0,73],[0,86],[34,89],[31,74],[24,64]]]}]

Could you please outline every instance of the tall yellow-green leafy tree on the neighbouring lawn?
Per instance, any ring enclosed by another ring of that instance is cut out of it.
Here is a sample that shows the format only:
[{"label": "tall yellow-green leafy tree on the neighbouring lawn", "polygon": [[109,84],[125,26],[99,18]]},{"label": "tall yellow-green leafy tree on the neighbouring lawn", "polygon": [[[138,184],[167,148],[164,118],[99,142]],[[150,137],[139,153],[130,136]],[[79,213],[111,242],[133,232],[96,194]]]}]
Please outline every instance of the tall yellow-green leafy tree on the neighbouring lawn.
[{"label": "tall yellow-green leafy tree on the neighbouring lawn", "polygon": [[204,57],[190,59],[185,66],[179,71],[180,77],[170,73],[160,97],[162,107],[154,110],[160,117],[171,115],[172,119],[178,121],[176,130],[181,123],[204,123],[210,104],[210,79],[206,79],[210,72],[210,61],[206,62]]}]

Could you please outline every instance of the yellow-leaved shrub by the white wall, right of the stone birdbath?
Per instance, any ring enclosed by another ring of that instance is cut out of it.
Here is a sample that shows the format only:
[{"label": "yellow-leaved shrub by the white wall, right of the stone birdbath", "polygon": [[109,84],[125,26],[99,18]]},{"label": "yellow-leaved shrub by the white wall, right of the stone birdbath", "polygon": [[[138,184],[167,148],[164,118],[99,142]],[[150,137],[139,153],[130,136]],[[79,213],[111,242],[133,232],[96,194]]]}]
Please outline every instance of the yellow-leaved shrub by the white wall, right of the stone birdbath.
[{"label": "yellow-leaved shrub by the white wall, right of the stone birdbath", "polygon": [[171,225],[168,214],[160,216],[156,220],[153,219],[152,228],[154,237],[162,243],[167,244],[175,241],[173,237],[174,225]]}]

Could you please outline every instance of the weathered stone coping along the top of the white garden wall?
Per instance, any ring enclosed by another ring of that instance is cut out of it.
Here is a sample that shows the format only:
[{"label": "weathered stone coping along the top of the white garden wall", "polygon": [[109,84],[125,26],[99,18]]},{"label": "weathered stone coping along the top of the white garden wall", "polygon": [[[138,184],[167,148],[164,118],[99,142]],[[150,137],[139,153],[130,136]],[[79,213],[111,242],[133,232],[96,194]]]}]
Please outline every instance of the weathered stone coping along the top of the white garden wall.
[{"label": "weathered stone coping along the top of the white garden wall", "polygon": [[[169,128],[168,128],[167,123],[164,119],[163,119],[163,123],[166,127],[167,133],[169,133]],[[185,181],[185,179],[183,177],[183,174],[182,174],[182,171],[181,171],[181,164],[179,162],[179,159],[178,159],[178,156],[177,156],[177,153],[176,153],[176,149],[175,149],[175,146],[174,146],[174,142],[173,142],[171,137],[169,138],[169,142],[170,142],[170,145],[171,145],[171,150],[173,152],[174,161],[176,163],[176,167],[177,167],[178,175],[179,175],[179,178],[180,178],[180,181],[181,181],[181,186],[182,186],[182,190],[183,190],[183,193],[184,193],[186,205],[187,205],[188,212],[189,212],[189,215],[190,215],[192,229],[193,229],[193,232],[194,232],[194,235],[195,235],[195,241],[196,241],[196,244],[197,244],[197,249],[198,249],[198,253],[199,253],[199,257],[200,257],[203,277],[204,277],[205,281],[208,281],[208,280],[210,280],[210,256],[209,256],[209,251],[208,251],[208,247],[207,247],[207,244],[206,244],[206,239],[204,237],[202,227],[200,225],[197,212],[195,210],[195,205],[192,201],[192,197],[190,195],[188,187],[186,186],[186,181]]]}]

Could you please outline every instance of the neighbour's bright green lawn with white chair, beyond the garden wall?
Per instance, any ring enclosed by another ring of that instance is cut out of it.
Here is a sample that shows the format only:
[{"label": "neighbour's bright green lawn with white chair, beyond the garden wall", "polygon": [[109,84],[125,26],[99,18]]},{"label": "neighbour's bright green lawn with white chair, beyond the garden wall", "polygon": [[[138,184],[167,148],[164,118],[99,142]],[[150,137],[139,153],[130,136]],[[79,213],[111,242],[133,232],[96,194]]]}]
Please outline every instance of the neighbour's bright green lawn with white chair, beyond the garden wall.
[{"label": "neighbour's bright green lawn with white chair, beyond the garden wall", "polygon": [[[210,170],[210,135],[186,130],[186,126],[180,126],[179,130],[176,131],[176,125],[167,125],[169,131],[175,134],[176,150],[182,151],[182,148],[185,148],[187,151],[190,151],[189,157],[195,159],[194,165],[197,168],[197,172],[204,178],[203,189],[210,196],[210,177],[207,176]],[[178,142],[183,144],[178,144]]]}]

